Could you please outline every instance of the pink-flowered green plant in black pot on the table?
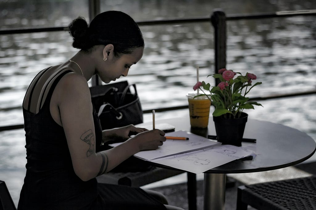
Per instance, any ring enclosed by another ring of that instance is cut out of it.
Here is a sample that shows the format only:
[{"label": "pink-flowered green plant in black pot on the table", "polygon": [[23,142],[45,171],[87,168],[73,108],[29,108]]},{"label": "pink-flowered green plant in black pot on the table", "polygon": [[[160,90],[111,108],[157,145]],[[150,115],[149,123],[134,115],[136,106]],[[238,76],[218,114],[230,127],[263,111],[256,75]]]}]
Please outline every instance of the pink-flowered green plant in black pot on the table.
[{"label": "pink-flowered green plant in black pot on the table", "polygon": [[[209,76],[218,78],[220,83],[215,87],[211,87],[210,83],[197,82],[193,89],[197,90],[199,88],[202,90],[203,94],[198,96],[207,96],[215,107],[213,121],[215,123],[217,140],[223,144],[241,146],[248,117],[248,114],[243,112],[244,109],[254,109],[253,105],[262,106],[255,101],[249,101],[246,95],[253,87],[262,82],[252,84],[252,81],[257,79],[256,75],[246,73],[243,76],[240,72],[224,68],[220,69],[218,74]],[[201,87],[209,91],[210,94],[205,94]]]}]

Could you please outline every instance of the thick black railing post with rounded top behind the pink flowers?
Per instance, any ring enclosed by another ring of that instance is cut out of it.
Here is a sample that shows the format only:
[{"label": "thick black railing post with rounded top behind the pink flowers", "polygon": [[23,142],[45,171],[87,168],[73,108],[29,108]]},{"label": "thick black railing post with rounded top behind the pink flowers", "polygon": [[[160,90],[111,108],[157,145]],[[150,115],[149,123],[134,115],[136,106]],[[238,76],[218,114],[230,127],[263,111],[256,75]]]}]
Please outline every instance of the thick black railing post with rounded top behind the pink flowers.
[{"label": "thick black railing post with rounded top behind the pink flowers", "polygon": [[[226,15],[221,10],[215,10],[211,15],[211,23],[214,26],[214,50],[215,50],[215,73],[219,69],[226,68]],[[219,79],[215,80],[216,86]]]}]

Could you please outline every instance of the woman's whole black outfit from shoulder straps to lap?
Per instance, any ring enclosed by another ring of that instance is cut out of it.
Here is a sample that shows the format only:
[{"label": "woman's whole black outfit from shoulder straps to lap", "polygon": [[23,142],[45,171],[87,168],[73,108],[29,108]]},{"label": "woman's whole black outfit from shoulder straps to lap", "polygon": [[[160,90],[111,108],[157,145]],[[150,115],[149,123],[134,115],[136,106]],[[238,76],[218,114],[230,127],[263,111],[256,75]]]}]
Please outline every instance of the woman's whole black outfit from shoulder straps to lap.
[{"label": "woman's whole black outfit from shoulder straps to lap", "polygon": [[[35,77],[37,81],[45,71],[47,69]],[[49,108],[57,83],[69,72],[72,71],[63,69],[56,74],[57,78],[46,99],[40,101],[40,105],[44,104],[37,114],[23,108],[27,171],[18,210],[166,210],[161,202],[141,188],[97,183],[95,178],[84,182],[75,174],[64,129],[54,121]],[[36,84],[37,81],[33,82]],[[33,90],[30,93],[29,101]],[[98,145],[101,143],[102,130],[95,109],[93,120],[98,151],[101,150]]]}]

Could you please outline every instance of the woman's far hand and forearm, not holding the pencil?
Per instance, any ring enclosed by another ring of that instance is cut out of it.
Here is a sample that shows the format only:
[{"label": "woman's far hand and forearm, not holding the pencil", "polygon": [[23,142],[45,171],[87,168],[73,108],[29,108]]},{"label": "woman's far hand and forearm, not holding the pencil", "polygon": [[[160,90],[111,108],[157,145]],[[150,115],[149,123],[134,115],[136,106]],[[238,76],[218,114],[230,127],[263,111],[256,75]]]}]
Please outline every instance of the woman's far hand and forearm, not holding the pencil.
[{"label": "woman's far hand and forearm, not holding the pencil", "polygon": [[131,137],[131,135],[136,135],[137,133],[142,133],[147,131],[146,128],[137,128],[134,125],[127,125],[120,128],[112,128],[109,130],[103,130],[102,132],[102,142],[115,141],[122,142],[126,141]]}]

